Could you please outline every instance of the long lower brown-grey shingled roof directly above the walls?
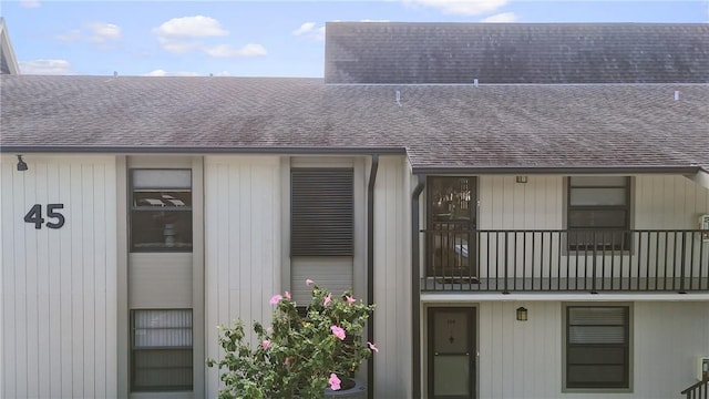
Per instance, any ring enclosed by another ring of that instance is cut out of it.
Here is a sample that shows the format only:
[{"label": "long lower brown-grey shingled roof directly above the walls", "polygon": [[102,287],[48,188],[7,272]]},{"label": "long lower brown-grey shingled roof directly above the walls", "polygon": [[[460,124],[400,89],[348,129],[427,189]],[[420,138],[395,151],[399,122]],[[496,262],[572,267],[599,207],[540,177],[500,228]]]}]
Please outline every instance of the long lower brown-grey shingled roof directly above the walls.
[{"label": "long lower brown-grey shingled roof directly above the walls", "polygon": [[707,84],[3,75],[0,95],[10,153],[407,151],[419,171],[709,171]]}]

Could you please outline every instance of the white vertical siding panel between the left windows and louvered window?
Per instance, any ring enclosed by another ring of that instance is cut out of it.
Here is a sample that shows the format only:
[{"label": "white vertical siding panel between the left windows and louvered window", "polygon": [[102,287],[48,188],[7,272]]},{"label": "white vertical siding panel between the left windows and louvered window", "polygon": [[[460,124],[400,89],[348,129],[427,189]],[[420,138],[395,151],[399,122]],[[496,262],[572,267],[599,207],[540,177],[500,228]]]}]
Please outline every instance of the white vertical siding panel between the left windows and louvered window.
[{"label": "white vertical siding panel between the left windows and louvered window", "polygon": [[[217,358],[217,325],[270,319],[280,290],[280,161],[277,156],[205,158],[205,340]],[[217,396],[207,369],[208,398]]]}]

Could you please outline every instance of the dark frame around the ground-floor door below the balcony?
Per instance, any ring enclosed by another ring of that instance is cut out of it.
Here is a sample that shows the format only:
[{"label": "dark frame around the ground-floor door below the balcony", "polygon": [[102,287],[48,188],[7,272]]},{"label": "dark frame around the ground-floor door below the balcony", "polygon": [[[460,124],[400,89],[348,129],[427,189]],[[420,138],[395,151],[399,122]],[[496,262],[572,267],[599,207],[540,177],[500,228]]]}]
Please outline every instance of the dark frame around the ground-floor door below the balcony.
[{"label": "dark frame around the ground-floor door below the balcony", "polygon": [[454,305],[432,305],[432,306],[428,306],[425,308],[425,315],[427,315],[427,320],[425,320],[425,331],[427,331],[427,338],[425,338],[425,356],[427,356],[427,376],[425,376],[425,381],[427,381],[427,397],[428,398],[434,398],[433,396],[433,389],[434,389],[434,383],[433,383],[433,358],[434,358],[434,344],[433,344],[433,320],[434,320],[434,314],[436,311],[463,311],[467,314],[467,319],[469,319],[469,336],[467,336],[467,345],[470,348],[470,392],[471,396],[469,397],[470,399],[476,399],[477,398],[477,336],[479,336],[479,311],[477,311],[477,306],[475,305],[467,305],[467,306],[454,306]]}]

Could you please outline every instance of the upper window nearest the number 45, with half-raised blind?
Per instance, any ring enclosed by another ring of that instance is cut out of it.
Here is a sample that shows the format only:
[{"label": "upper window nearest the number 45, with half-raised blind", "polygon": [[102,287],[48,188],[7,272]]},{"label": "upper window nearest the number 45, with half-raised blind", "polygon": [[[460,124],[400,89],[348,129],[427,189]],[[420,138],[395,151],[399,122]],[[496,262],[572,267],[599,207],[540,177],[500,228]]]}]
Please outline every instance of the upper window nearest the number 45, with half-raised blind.
[{"label": "upper window nearest the number 45, with half-raised blind", "polygon": [[131,171],[131,250],[192,252],[192,171]]}]

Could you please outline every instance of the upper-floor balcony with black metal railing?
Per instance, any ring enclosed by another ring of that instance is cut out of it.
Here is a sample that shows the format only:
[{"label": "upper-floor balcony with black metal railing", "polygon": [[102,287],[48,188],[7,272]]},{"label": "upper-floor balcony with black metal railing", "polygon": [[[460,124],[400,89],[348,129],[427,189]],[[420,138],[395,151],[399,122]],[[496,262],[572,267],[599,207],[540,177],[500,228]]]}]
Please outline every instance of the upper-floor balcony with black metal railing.
[{"label": "upper-floor balcony with black metal railing", "polygon": [[422,231],[422,291],[709,291],[707,231]]}]

